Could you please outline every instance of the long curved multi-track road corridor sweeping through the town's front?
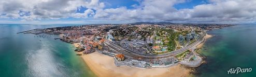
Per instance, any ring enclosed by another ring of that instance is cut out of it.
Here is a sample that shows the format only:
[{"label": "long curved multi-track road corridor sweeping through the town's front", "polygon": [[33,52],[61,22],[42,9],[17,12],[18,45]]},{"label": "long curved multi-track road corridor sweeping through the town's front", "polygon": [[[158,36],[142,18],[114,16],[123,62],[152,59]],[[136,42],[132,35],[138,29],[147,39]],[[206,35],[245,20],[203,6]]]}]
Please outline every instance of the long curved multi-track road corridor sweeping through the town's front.
[{"label": "long curved multi-track road corridor sweeping through the town's front", "polygon": [[112,49],[115,49],[116,52],[122,53],[125,56],[129,56],[129,57],[143,57],[144,59],[159,59],[159,58],[165,58],[165,57],[170,57],[173,55],[177,55],[180,54],[188,49],[191,49],[191,47],[195,47],[198,44],[202,43],[204,41],[204,37],[200,37],[196,42],[192,43],[189,46],[186,46],[184,48],[178,49],[176,51],[172,51],[172,52],[168,52],[168,53],[163,53],[163,54],[141,54],[138,53],[136,51],[132,51],[129,49],[125,49],[113,42],[110,41],[106,41],[106,45],[108,45],[109,47],[111,47]]}]

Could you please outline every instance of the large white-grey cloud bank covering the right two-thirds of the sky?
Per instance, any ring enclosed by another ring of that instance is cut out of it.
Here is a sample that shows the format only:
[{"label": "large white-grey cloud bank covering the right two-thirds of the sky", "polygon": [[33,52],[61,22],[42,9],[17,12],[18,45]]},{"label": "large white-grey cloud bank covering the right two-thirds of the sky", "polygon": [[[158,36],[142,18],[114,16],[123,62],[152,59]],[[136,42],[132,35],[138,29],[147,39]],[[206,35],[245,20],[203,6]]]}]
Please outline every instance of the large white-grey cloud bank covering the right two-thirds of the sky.
[{"label": "large white-grey cloud bank covering the right two-thirds of the sky", "polygon": [[[210,4],[192,9],[176,9],[175,4],[186,1],[145,0],[136,9],[120,7],[97,12],[96,18],[111,20],[170,21],[183,23],[240,23],[251,21],[256,15],[256,1],[211,0]],[[98,15],[99,14],[99,15]]]}]

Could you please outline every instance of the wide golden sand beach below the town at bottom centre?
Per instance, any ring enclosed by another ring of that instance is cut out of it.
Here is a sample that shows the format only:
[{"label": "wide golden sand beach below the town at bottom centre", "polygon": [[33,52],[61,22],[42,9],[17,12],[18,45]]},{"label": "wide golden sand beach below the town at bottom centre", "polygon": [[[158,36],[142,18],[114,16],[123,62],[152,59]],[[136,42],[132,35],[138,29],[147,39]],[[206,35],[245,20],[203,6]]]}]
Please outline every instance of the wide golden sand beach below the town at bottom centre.
[{"label": "wide golden sand beach below the town at bottom centre", "polygon": [[[79,53],[79,52],[78,52]],[[189,76],[190,69],[181,65],[168,68],[142,69],[129,66],[119,66],[114,64],[113,57],[98,52],[81,55],[82,59],[97,76]]]}]

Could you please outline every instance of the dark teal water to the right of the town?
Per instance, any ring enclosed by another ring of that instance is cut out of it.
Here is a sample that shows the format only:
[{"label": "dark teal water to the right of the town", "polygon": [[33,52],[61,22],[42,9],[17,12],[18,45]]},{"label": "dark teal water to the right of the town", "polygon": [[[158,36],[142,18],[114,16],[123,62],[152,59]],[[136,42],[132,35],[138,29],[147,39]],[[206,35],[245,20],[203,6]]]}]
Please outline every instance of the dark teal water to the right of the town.
[{"label": "dark teal water to the right of the town", "polygon": [[[256,76],[256,25],[237,25],[209,31],[201,54],[207,64],[196,68],[196,76]],[[252,68],[251,72],[227,74],[231,68]]]}]

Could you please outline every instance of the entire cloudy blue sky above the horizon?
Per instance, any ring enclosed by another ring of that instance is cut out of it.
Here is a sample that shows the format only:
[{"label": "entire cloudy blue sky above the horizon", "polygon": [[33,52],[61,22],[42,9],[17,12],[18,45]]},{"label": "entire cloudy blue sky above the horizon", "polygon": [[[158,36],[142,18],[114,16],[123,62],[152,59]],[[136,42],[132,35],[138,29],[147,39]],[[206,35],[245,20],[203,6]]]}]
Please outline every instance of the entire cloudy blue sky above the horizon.
[{"label": "entire cloudy blue sky above the horizon", "polygon": [[253,23],[255,0],[1,0],[0,24]]}]

